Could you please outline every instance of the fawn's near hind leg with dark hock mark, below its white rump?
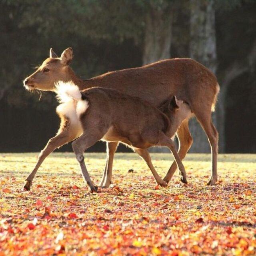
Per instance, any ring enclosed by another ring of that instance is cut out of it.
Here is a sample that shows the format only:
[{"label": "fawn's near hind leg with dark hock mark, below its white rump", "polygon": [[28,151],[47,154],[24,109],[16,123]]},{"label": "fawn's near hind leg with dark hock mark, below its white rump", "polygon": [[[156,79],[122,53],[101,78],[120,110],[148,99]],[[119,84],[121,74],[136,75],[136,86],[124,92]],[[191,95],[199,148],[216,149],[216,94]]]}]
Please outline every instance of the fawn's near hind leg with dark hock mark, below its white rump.
[{"label": "fawn's near hind leg with dark hock mark, below its white rump", "polygon": [[84,178],[84,181],[86,184],[90,186],[91,192],[96,192],[97,188],[92,183],[92,180],[90,179],[90,175],[86,169],[86,165],[84,163],[84,151],[95,144],[100,138],[88,135],[88,134],[82,134],[78,139],[76,139],[74,142],[72,142],[72,148],[74,150],[74,153],[76,154],[76,159],[78,160],[80,164],[80,168],[82,171],[82,176]]}]

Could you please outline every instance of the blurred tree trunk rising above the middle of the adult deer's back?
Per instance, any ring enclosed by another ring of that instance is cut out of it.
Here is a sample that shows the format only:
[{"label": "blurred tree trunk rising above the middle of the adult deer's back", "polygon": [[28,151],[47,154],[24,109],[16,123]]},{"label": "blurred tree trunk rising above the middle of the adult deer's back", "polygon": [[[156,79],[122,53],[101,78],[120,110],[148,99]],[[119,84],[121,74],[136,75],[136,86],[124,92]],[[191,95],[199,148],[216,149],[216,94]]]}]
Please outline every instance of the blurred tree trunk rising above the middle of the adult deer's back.
[{"label": "blurred tree trunk rising above the middle of the adult deer's back", "polygon": [[143,65],[170,58],[173,7],[157,8],[150,4],[145,18]]}]

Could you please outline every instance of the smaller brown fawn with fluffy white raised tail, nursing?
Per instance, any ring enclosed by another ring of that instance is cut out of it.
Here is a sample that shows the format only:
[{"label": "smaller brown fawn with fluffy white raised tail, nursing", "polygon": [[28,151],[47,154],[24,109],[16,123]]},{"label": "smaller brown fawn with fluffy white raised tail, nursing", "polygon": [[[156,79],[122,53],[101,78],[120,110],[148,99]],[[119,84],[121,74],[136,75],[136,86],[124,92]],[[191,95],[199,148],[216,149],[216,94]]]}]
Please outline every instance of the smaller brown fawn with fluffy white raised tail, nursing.
[{"label": "smaller brown fawn with fluffy white raised tail, nursing", "polygon": [[167,146],[174,155],[182,182],[187,182],[185,168],[170,138],[182,121],[191,116],[188,104],[169,96],[156,108],[146,100],[114,89],[93,87],[80,91],[72,82],[62,81],[56,84],[56,92],[61,102],[56,109],[60,118],[67,116],[78,124],[78,133],[82,130],[82,135],[72,142],[72,148],[92,192],[96,187],[86,169],[83,153],[98,140],[122,142],[133,148],[146,161],[161,186],[167,183],[154,169],[147,148]]}]

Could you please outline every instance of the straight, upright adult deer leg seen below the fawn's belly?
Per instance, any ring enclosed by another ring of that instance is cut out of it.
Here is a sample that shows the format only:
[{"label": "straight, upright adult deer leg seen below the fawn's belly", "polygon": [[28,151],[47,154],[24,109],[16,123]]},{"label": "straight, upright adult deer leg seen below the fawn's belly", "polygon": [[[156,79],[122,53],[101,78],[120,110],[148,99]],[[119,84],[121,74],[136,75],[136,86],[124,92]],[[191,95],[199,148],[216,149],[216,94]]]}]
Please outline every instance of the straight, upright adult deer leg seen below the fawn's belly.
[{"label": "straight, upright adult deer leg seen below the fawn's belly", "polygon": [[118,146],[118,142],[107,142],[106,166],[100,182],[100,186],[102,188],[108,188],[111,184],[113,160],[114,160],[114,154],[116,152],[117,146]]}]

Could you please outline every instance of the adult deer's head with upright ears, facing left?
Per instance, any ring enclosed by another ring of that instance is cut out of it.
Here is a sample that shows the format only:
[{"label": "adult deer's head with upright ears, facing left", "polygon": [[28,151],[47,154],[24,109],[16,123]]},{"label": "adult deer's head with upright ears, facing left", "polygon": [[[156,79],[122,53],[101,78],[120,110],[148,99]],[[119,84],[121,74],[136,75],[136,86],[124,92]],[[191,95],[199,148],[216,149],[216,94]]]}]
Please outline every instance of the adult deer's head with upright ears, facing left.
[{"label": "adult deer's head with upright ears, facing left", "polygon": [[30,76],[28,76],[23,84],[27,90],[43,90],[54,91],[55,83],[59,80],[70,81],[74,72],[69,64],[73,58],[72,48],[64,50],[58,58],[57,54],[50,49],[50,56],[42,65]]}]

